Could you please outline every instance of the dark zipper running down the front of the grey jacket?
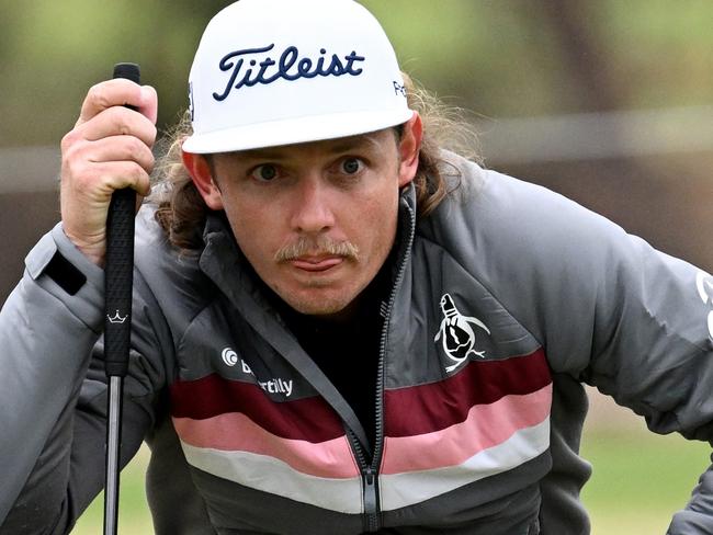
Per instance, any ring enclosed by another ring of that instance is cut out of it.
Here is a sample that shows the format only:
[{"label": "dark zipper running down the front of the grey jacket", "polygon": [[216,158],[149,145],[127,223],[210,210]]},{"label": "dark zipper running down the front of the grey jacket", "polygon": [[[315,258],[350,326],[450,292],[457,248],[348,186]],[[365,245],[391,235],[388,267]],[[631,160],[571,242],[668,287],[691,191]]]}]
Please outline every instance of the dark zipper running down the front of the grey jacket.
[{"label": "dark zipper running down the front of the grey jacket", "polygon": [[396,301],[396,292],[400,286],[406,264],[411,257],[411,243],[414,241],[414,234],[416,230],[416,216],[410,206],[406,205],[409,212],[409,232],[406,240],[406,251],[401,258],[398,266],[398,272],[394,278],[392,293],[388,297],[386,311],[384,314],[384,325],[382,327],[381,342],[378,348],[378,367],[376,373],[376,412],[374,422],[374,455],[371,463],[367,462],[364,448],[359,442],[356,436],[351,430],[348,430],[352,449],[359,463],[361,478],[362,478],[362,500],[364,503],[364,531],[366,533],[375,533],[381,528],[381,506],[380,506],[380,492],[378,492],[378,467],[382,463],[382,454],[384,449],[384,357],[386,354],[386,339],[388,338],[388,327],[394,309],[394,301]]}]

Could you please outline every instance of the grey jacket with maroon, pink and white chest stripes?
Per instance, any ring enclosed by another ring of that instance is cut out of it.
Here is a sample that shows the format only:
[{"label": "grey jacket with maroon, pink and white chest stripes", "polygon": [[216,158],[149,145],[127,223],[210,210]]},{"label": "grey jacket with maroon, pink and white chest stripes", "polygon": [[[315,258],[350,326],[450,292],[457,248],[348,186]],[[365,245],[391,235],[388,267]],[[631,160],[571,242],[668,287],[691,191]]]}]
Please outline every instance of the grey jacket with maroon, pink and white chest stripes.
[{"label": "grey jacket with maroon, pink and white chest stripes", "polygon": [[[222,218],[181,255],[142,209],[123,463],[148,442],[156,533],[589,533],[582,384],[656,432],[713,437],[709,275],[452,158],[461,185],[434,214],[401,195],[373,447]],[[58,255],[86,277],[71,292]],[[64,533],[101,490],[102,287],[57,226],[0,314],[0,533]],[[713,533],[712,492],[705,471],[670,533]]]}]

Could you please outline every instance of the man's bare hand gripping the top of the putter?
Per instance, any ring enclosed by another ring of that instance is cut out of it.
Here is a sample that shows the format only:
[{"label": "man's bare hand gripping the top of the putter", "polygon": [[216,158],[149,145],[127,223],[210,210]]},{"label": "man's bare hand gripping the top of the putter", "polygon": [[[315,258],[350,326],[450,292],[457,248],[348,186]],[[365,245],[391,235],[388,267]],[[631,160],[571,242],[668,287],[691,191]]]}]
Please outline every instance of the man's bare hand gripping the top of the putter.
[{"label": "man's bare hand gripping the top of the putter", "polygon": [[61,140],[63,227],[98,265],[104,263],[106,215],[114,190],[134,189],[137,209],[150,192],[157,111],[154,88],[107,80],[89,90],[75,128]]}]

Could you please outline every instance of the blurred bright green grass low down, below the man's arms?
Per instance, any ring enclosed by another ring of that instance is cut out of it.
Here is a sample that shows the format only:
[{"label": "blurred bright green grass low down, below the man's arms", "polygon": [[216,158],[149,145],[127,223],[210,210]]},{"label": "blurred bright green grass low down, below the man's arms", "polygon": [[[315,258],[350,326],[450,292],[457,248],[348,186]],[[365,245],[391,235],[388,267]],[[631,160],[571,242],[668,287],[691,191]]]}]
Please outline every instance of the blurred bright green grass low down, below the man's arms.
[{"label": "blurred bright green grass low down, below the man's arms", "polygon": [[[592,535],[664,534],[671,515],[686,505],[700,474],[710,464],[711,448],[677,435],[658,436],[637,420],[616,425],[589,425],[581,455],[595,466],[582,492],[591,515]],[[152,533],[144,493],[148,453],[122,473],[118,533]],[[103,497],[79,520],[72,534],[102,532]]]}]

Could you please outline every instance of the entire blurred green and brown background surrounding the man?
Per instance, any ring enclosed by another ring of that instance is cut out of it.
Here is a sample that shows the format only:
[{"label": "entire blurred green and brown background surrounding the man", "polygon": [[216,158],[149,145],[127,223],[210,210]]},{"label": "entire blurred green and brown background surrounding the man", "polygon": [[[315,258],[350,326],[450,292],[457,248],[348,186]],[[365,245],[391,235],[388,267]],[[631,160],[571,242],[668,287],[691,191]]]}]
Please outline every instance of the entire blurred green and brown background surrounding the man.
[{"label": "entire blurred green and brown background surrounding the man", "polygon": [[[87,89],[142,65],[159,126],[186,104],[204,0],[0,0],[0,301],[58,219],[58,144]],[[364,0],[404,70],[468,111],[485,164],[550,186],[713,270],[713,2]],[[344,21],[347,24],[348,21]],[[593,533],[665,533],[710,447],[654,436],[592,391],[582,454]],[[150,533],[146,453],[124,473],[122,533]],[[101,506],[75,533],[100,532]]]}]

